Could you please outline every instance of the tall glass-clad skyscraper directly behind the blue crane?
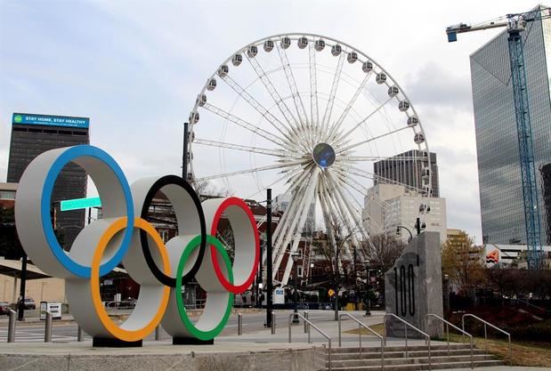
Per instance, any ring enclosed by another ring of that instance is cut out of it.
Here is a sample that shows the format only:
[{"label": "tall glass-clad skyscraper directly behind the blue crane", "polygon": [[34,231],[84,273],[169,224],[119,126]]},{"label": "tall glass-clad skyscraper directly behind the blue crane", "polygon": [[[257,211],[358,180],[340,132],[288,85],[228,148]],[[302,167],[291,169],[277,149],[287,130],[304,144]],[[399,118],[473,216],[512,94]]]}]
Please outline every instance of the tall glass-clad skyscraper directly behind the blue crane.
[{"label": "tall glass-clad skyscraper directly behind the blue crane", "polygon": [[[541,12],[540,7],[534,12]],[[536,172],[551,162],[551,20],[529,22],[523,31],[524,67],[528,85]],[[471,57],[474,125],[482,212],[482,241],[526,244],[520,155],[507,32]],[[538,183],[541,241],[548,229]]]}]

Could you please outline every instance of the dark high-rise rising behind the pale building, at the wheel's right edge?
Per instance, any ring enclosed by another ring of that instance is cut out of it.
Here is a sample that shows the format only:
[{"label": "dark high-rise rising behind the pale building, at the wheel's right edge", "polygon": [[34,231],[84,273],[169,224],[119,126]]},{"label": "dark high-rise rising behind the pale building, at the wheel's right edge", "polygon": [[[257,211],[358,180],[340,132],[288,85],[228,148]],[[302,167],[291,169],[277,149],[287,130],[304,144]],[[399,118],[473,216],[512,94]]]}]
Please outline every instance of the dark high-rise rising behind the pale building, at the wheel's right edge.
[{"label": "dark high-rise rising behind the pale building, at the wheel's right edge", "polygon": [[[431,184],[435,198],[440,197],[438,184],[438,165],[436,164],[436,154],[431,152]],[[423,170],[428,166],[427,156],[424,151],[411,149],[388,159],[377,161],[373,164],[373,170],[376,175],[375,184],[385,181],[377,181],[377,176],[381,176],[390,181],[397,181],[417,190],[424,190]]]}]

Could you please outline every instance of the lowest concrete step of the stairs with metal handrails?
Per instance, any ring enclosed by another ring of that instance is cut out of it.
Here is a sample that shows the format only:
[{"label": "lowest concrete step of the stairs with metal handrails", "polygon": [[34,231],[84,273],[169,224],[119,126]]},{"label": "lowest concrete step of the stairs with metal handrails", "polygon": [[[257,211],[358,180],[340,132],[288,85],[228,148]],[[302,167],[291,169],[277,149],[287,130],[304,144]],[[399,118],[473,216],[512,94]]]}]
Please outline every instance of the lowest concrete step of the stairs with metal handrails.
[{"label": "lowest concrete step of the stairs with metal handrails", "polygon": [[[485,361],[485,360],[494,360],[495,358],[488,354],[477,354],[473,356],[474,362]],[[470,365],[471,356],[469,355],[459,355],[459,356],[439,356],[431,357],[431,364],[441,364],[441,363],[450,363],[450,362],[467,362]],[[420,358],[386,358],[385,357],[385,367],[391,366],[401,366],[401,365],[415,365],[415,364],[428,364],[428,357]],[[328,362],[326,362],[326,367]],[[332,367],[380,367],[381,359],[341,359],[334,360],[331,359]]]}]

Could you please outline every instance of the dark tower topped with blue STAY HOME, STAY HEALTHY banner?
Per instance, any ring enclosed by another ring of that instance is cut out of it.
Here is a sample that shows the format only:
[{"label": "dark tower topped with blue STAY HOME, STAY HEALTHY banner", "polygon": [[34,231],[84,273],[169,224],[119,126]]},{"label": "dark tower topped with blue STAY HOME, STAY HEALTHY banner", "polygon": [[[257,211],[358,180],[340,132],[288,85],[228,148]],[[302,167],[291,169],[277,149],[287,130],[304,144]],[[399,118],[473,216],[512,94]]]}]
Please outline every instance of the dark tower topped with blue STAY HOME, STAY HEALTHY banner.
[{"label": "dark tower topped with blue STAY HOME, STAY HEALTHY banner", "polygon": [[[28,164],[46,150],[89,144],[89,123],[90,119],[86,117],[14,113],[7,181],[18,183]],[[84,228],[85,211],[61,212],[59,201],[85,197],[86,173],[78,165],[69,163],[55,181],[52,194],[54,228],[60,232],[66,248],[72,245],[78,232]]]}]

